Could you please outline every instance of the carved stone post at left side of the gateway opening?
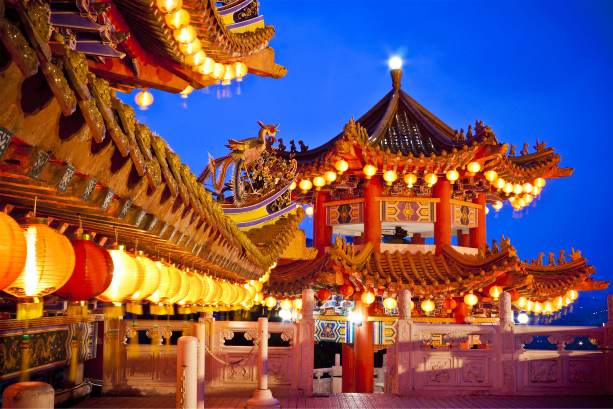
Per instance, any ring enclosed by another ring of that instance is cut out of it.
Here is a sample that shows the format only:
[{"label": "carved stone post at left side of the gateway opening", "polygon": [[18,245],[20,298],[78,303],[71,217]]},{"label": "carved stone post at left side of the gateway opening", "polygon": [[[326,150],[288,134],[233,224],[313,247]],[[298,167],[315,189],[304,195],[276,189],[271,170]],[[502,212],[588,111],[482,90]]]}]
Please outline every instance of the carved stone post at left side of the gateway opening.
[{"label": "carved stone post at left side of the gateway opening", "polygon": [[315,319],[313,305],[315,292],[310,289],[302,291],[302,318],[300,319],[300,372],[298,388],[305,396],[313,396],[313,357],[315,347]]}]

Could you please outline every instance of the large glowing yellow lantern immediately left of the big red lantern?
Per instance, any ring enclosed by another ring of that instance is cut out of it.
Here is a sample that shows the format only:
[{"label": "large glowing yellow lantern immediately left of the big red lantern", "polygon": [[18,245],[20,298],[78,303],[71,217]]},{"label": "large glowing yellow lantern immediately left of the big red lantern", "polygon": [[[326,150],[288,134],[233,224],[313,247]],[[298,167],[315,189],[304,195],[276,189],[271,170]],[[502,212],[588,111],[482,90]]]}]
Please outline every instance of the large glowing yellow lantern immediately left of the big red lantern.
[{"label": "large glowing yellow lantern immediately left of the big red lantern", "polygon": [[[9,278],[12,283],[4,289],[20,299],[17,319],[42,316],[42,302],[39,298],[66,284],[75,268],[75,253],[70,240],[51,229],[47,223],[45,218],[19,220],[27,251],[25,264],[21,263],[23,269],[14,280]],[[2,230],[0,234],[2,242],[10,237],[9,231]],[[9,259],[2,259],[2,264],[10,264],[12,257],[10,254]]]}]

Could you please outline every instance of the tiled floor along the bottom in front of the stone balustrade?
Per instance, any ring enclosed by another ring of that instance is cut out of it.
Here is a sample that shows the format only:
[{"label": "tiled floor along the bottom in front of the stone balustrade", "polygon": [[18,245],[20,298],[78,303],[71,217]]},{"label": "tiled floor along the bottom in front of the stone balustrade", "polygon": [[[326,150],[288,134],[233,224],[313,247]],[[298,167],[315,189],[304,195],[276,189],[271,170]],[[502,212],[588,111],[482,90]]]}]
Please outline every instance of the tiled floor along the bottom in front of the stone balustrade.
[{"label": "tiled floor along the bottom in front of the stone balustrade", "polygon": [[[205,401],[207,409],[244,408],[247,398],[211,397]],[[385,394],[330,394],[310,398],[281,399],[283,409],[301,408],[416,408],[416,409],[498,409],[498,408],[564,408],[564,409],[611,409],[611,396],[547,396],[547,397],[428,397],[401,398]],[[175,409],[174,397],[93,397],[72,407],[72,409]]]}]

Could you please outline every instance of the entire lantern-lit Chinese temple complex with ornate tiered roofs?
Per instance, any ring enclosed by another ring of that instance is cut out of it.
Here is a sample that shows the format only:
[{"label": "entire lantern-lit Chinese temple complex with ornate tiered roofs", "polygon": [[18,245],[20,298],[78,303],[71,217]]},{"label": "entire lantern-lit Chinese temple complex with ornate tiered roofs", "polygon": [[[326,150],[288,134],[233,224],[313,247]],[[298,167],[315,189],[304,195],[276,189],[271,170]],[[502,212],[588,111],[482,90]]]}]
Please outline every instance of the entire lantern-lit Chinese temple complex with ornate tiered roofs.
[{"label": "entire lantern-lit Chinese temple complex with ornate tiered roofs", "polygon": [[[287,72],[259,2],[217,3],[0,1],[2,404],[67,407],[99,389],[199,409],[205,394],[253,393],[246,407],[279,407],[273,393],[313,396],[321,341],[343,344],[337,392],[373,392],[387,348],[387,393],[451,394],[451,368],[422,357],[474,347],[462,393],[544,393],[534,367],[521,384],[478,362],[514,373],[504,348],[531,343],[514,313],[545,323],[609,282],[574,248],[530,260],[509,238],[488,242],[486,215],[520,210],[573,169],[545,142],[499,143],[483,121],[450,128],[402,91],[399,67],[392,90],[321,147],[287,151],[278,125],[259,122],[226,156],[185,164],[118,96],[147,109],[148,90],[187,96]],[[604,329],[549,336],[550,360],[573,334],[609,352],[584,354],[576,381],[544,382],[611,392],[612,313]],[[450,381],[422,388],[420,371]]]}]

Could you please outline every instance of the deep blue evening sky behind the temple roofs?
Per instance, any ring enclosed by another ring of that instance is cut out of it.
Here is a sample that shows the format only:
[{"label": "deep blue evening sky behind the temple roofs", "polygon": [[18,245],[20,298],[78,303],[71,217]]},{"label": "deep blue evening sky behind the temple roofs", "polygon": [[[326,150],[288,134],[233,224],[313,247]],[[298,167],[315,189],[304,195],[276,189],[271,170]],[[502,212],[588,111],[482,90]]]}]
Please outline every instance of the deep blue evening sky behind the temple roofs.
[{"label": "deep blue evening sky behind the temple roofs", "polygon": [[[612,279],[613,2],[264,0],[260,12],[285,77],[248,75],[225,96],[221,86],[188,99],[152,91],[137,111],[195,174],[228,138],[257,136],[258,120],[281,123],[288,147],[321,145],[390,90],[387,59],[400,55],[403,90],[452,128],[479,118],[518,154],[538,138],[575,168],[523,212],[490,212],[488,239],[510,237],[522,259],[560,249],[569,259],[574,247],[595,280]],[[119,96],[135,105],[134,93]],[[311,220],[303,228],[312,237]]]}]

